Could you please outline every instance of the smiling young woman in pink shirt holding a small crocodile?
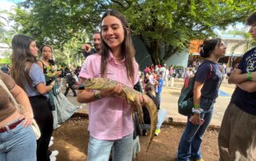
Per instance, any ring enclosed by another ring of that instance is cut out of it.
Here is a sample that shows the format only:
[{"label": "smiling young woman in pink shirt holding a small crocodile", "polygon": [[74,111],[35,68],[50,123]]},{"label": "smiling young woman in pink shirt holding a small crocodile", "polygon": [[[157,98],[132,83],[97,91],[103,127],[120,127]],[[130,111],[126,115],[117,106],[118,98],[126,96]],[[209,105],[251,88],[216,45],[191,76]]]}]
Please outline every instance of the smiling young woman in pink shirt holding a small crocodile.
[{"label": "smiling young woman in pink shirt holding a small crocodile", "polygon": [[[126,18],[118,11],[107,11],[101,29],[102,51],[86,58],[79,75],[81,83],[86,78],[107,77],[133,88],[138,82],[138,63]],[[114,160],[132,159],[134,124],[130,106],[116,97],[122,84],[110,92],[78,92],[78,102],[89,103],[89,161],[108,160],[111,149]]]}]

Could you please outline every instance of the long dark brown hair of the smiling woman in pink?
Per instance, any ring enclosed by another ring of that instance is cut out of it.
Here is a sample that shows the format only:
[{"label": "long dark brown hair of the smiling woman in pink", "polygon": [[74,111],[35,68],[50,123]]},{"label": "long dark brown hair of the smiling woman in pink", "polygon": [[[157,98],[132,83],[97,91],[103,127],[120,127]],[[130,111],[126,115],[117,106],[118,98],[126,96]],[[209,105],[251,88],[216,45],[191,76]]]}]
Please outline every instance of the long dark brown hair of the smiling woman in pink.
[{"label": "long dark brown hair of the smiling woman in pink", "polygon": [[[124,30],[124,41],[122,42],[122,57],[126,59],[125,65],[126,65],[126,71],[127,71],[127,77],[134,83],[134,45],[131,40],[130,32],[127,31],[128,28],[128,22],[126,21],[126,18],[123,14],[116,10],[108,10],[105,14],[102,16],[102,21],[106,16],[114,16],[115,18],[118,18],[122,22],[122,27]],[[101,21],[101,23],[102,23]],[[101,31],[101,37],[102,37],[102,31]],[[101,62],[101,73],[102,77],[106,77],[106,65],[108,62],[108,57],[110,55],[110,47],[106,44],[105,41],[102,39],[102,62]]]}]

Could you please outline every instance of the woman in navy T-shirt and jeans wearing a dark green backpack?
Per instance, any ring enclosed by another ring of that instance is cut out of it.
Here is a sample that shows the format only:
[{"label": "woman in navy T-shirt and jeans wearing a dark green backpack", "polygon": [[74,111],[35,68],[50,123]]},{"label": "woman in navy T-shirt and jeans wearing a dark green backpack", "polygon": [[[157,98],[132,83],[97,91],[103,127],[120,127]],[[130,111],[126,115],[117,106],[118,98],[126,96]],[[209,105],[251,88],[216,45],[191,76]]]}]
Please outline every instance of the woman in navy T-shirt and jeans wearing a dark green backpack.
[{"label": "woman in navy T-shirt and jeans wearing a dark green backpack", "polygon": [[204,41],[200,55],[206,61],[198,67],[194,77],[194,108],[188,116],[186,129],[178,146],[178,160],[203,160],[200,151],[202,135],[210,124],[222,73],[218,59],[224,57],[226,45],[219,39]]}]

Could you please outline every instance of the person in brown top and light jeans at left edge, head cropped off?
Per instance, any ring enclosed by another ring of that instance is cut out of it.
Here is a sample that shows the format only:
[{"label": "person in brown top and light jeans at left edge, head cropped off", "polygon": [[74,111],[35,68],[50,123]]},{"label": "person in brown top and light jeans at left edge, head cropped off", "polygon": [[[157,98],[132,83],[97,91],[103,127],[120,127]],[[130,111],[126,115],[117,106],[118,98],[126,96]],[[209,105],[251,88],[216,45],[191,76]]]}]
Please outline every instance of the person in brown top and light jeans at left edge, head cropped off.
[{"label": "person in brown top and light jeans at left edge, head cropped off", "polygon": [[30,124],[34,118],[30,100],[14,80],[0,71],[0,79],[26,112],[21,116],[0,85],[0,160],[36,160],[36,139]]}]

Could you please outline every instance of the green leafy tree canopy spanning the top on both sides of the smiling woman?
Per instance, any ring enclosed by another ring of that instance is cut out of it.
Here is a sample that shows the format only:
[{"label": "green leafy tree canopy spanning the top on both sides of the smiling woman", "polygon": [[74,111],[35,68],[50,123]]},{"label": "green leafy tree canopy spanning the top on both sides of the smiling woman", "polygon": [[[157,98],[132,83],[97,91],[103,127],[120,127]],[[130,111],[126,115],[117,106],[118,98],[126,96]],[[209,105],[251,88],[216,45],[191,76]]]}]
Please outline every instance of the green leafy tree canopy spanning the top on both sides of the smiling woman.
[{"label": "green leafy tree canopy spanning the top on both sides of the smiling woman", "polygon": [[[131,32],[146,45],[154,64],[186,49],[190,39],[214,35],[214,28],[243,22],[256,2],[235,0],[27,0],[13,19],[22,33],[39,41],[49,37],[58,48],[77,33],[92,33],[102,12],[113,8],[126,15]],[[90,34],[89,34],[90,35]],[[161,54],[161,49],[165,52]]]}]

